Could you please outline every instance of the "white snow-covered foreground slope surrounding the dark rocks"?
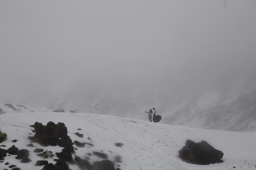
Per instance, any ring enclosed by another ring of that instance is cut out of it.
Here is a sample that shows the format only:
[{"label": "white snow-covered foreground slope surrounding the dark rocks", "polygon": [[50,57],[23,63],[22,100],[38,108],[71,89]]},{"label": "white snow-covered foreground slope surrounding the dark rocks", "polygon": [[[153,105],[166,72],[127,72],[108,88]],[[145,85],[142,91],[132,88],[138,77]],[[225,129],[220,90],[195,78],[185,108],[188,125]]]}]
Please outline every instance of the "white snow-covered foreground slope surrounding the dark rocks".
[{"label": "white snow-covered foreground slope surrounding the dark rocks", "polygon": [[[146,116],[146,115],[145,115]],[[122,170],[255,170],[256,169],[256,133],[232,132],[208,129],[195,129],[189,127],[173,126],[168,124],[147,122],[131,118],[96,115],[85,113],[10,113],[0,115],[0,129],[8,134],[8,140],[0,145],[8,149],[15,145],[19,149],[30,151],[30,163],[20,163],[15,155],[6,156],[0,169],[10,169],[8,166],[17,165],[22,170],[41,170],[43,166],[35,166],[37,160],[43,160],[33,152],[35,148],[50,150],[53,153],[61,152],[59,146],[41,146],[29,144],[28,136],[34,136],[29,127],[35,122],[54,123],[64,122],[68,135],[74,140],[94,144],[94,147],[78,148],[75,155],[84,158],[93,151],[108,154],[108,159],[114,161],[116,155],[122,157],[119,164]],[[81,128],[82,130],[77,130]],[[84,134],[84,138],[77,137],[74,133]],[[31,133],[31,135],[29,135]],[[92,141],[88,139],[90,137]],[[17,139],[16,143],[12,140]],[[215,149],[224,153],[223,163],[210,165],[195,165],[182,161],[178,157],[179,150],[185,145],[187,139],[195,142],[207,141]],[[123,143],[123,147],[116,147],[116,143]],[[110,152],[111,151],[111,152]],[[112,153],[113,152],[113,153]],[[74,155],[73,155],[74,156]],[[52,163],[55,158],[48,158]],[[96,156],[90,162],[103,160]],[[5,165],[9,162],[10,165]],[[78,166],[69,166],[78,170]],[[117,167],[117,166],[116,166]],[[236,167],[236,168],[233,168]]]}]

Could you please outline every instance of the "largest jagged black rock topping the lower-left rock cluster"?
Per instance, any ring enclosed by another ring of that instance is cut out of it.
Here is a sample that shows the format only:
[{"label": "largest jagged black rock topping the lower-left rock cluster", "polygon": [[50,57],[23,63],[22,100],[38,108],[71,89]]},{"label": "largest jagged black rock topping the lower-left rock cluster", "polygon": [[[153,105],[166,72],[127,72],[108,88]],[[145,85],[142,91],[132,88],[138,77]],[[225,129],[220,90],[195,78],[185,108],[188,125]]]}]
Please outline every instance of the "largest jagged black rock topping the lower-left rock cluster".
[{"label": "largest jagged black rock topping the lower-left rock cluster", "polygon": [[35,122],[34,128],[36,132],[35,136],[30,137],[30,139],[43,146],[56,146],[60,144],[60,146],[65,147],[68,144],[73,145],[72,140],[68,137],[68,130],[64,123],[59,122],[55,124],[48,122],[47,125],[44,126],[42,123]]}]

